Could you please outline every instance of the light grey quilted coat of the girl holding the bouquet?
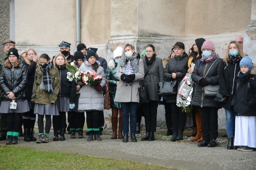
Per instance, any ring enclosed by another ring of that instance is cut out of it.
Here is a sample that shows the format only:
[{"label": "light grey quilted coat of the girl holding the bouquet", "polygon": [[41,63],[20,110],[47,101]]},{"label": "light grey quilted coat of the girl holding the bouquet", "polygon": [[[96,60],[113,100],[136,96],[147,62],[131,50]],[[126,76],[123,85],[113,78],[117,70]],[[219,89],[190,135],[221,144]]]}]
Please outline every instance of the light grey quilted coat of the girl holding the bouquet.
[{"label": "light grey quilted coat of the girl holding the bouquet", "polygon": [[[90,70],[92,72],[93,68],[91,67],[90,64],[86,62],[85,65],[80,67],[80,71],[87,71],[87,70]],[[97,75],[102,76],[100,85],[101,87],[105,87],[106,78],[105,78],[104,69],[101,66],[99,66],[96,73]],[[91,111],[91,110],[104,111],[103,94],[100,94],[95,89],[95,87],[90,86],[90,84],[86,85],[86,84],[82,84],[81,82],[78,82],[78,84],[82,86],[80,89],[78,110],[79,111]]]}]

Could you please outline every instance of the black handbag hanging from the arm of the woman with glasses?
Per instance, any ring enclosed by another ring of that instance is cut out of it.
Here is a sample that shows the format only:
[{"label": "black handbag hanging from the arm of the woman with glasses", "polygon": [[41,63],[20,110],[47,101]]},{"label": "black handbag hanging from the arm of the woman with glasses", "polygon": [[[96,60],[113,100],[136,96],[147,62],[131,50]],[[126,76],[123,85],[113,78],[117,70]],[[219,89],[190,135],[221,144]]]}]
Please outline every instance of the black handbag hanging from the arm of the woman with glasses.
[{"label": "black handbag hanging from the arm of the woman with glasses", "polygon": [[[167,78],[166,78],[167,79]],[[165,79],[165,80],[166,80]],[[160,97],[166,97],[166,96],[171,96],[171,95],[177,95],[178,91],[178,83],[177,80],[173,80],[170,82],[166,81],[158,82],[157,83],[157,95]]]}]

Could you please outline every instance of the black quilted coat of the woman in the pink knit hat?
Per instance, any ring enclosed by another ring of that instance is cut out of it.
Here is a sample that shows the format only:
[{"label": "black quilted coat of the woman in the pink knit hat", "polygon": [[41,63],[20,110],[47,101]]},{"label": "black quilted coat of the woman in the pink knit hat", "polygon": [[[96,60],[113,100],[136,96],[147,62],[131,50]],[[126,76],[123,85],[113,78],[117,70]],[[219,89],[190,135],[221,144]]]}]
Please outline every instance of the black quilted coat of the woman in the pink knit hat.
[{"label": "black quilted coat of the woman in the pink knit hat", "polygon": [[204,86],[200,83],[200,80],[205,78],[209,85],[219,84],[218,77],[220,70],[223,69],[223,60],[222,58],[217,58],[216,60],[217,61],[211,67],[206,77],[205,74],[214,61],[203,63],[203,65],[201,65],[200,60],[197,61],[194,71],[191,74],[192,80],[196,83],[192,106],[220,108],[220,105],[214,102],[215,97],[204,96]]}]

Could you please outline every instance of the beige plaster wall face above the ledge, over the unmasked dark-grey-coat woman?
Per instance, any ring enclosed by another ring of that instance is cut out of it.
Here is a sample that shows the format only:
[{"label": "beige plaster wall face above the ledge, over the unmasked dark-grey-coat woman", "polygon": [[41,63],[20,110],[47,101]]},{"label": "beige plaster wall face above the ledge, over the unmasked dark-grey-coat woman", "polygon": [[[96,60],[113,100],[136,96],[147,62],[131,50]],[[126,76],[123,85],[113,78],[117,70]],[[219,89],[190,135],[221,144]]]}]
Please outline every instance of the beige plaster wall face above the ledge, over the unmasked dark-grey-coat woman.
[{"label": "beige plaster wall face above the ledge, over the unmasked dark-grey-coat woman", "polygon": [[186,0],[138,1],[139,35],[184,36]]}]

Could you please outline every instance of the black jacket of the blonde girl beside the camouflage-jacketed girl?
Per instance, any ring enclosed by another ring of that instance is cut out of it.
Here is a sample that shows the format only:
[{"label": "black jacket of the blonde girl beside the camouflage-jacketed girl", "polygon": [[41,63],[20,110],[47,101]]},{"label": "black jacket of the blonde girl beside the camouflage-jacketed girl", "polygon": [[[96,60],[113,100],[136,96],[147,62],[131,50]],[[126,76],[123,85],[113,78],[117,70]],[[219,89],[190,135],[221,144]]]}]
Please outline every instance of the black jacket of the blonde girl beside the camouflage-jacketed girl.
[{"label": "black jacket of the blonde girl beside the camouflage-jacketed girl", "polygon": [[66,68],[66,65],[56,66],[59,70],[60,75],[60,89],[59,89],[59,97],[68,97],[69,101],[75,102],[75,93],[76,93],[76,82],[73,80],[72,82],[67,79],[67,72],[69,69]]}]

